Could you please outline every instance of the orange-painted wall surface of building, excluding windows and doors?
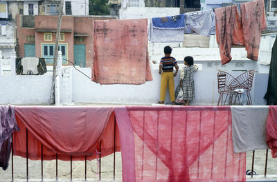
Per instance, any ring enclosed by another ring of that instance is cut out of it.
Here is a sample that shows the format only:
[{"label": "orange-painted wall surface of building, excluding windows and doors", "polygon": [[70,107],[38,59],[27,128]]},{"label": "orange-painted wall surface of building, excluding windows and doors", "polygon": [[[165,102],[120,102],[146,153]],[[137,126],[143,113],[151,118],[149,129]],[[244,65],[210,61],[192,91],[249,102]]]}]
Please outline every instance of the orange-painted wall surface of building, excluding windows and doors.
[{"label": "orange-painted wall surface of building, excluding windows and doors", "polygon": [[[86,45],[86,67],[91,67],[93,59],[93,20],[96,19],[116,19],[111,17],[73,17],[62,16],[61,33],[64,33],[65,41],[59,43],[67,43],[67,59],[74,61],[74,44]],[[57,30],[58,16],[38,15],[35,16],[35,28],[21,28],[20,16],[17,15],[17,39],[19,43],[19,57],[24,57],[24,43],[26,36],[35,35],[35,56],[42,57],[42,43],[55,44],[56,32],[52,32],[52,41],[44,41],[44,32],[36,30]],[[62,30],[71,30],[71,32],[62,32]],[[75,43],[75,34],[89,34],[84,37],[84,42]],[[71,65],[71,63],[68,63]]]}]

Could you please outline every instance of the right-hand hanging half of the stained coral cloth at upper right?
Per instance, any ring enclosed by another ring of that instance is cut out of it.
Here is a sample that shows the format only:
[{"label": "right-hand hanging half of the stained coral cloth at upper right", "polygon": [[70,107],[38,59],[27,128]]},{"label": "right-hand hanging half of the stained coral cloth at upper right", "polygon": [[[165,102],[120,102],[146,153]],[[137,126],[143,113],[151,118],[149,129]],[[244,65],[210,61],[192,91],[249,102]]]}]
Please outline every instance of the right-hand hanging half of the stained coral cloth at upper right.
[{"label": "right-hand hanging half of the stained coral cloth at upper right", "polygon": [[264,0],[241,3],[240,14],[242,16],[247,58],[257,61],[260,48],[260,35],[263,30],[267,29]]}]

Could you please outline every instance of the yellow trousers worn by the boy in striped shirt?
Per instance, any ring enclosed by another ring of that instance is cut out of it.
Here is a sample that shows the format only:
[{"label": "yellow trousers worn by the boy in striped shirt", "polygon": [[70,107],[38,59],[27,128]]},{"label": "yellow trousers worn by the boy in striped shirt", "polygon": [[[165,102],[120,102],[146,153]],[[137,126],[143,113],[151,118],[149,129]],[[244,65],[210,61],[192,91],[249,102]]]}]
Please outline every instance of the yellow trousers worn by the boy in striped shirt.
[{"label": "yellow trousers worn by the boy in striped shirt", "polygon": [[173,72],[163,72],[161,74],[160,101],[166,100],[166,88],[169,90],[170,101],[175,102],[175,85]]}]

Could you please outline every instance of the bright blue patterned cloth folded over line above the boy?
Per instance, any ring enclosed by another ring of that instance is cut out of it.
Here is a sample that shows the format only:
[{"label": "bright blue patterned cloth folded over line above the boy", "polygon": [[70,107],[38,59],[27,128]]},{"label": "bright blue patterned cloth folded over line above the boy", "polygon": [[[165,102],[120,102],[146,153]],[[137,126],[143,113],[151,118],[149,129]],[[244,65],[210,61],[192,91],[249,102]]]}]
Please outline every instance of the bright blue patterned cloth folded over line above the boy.
[{"label": "bright blue patterned cloth folded over line above the boy", "polygon": [[152,18],[153,28],[158,28],[162,30],[180,30],[185,27],[185,16],[184,14],[179,14],[172,17],[159,17]]}]

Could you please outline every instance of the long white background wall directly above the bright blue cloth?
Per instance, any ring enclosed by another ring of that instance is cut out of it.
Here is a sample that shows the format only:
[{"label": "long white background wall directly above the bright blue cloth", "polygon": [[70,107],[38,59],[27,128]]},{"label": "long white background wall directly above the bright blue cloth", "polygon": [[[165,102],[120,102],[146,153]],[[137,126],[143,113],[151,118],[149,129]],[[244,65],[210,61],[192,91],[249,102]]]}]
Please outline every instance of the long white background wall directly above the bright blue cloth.
[{"label": "long white background wall directly above the bright blue cloth", "polygon": [[180,8],[127,7],[119,10],[120,19],[147,19],[180,14]]}]

